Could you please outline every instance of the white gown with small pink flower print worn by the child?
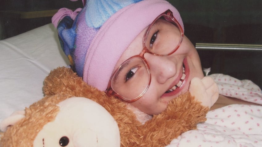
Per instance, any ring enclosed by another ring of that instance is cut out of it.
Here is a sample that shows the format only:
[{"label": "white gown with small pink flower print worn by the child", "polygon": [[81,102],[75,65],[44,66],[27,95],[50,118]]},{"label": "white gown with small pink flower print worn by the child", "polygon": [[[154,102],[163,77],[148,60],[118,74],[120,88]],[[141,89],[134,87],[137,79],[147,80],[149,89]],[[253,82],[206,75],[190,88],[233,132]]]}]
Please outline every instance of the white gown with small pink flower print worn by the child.
[{"label": "white gown with small pink flower print worn by the child", "polygon": [[[262,104],[261,89],[250,80],[210,75],[219,93]],[[233,104],[208,112],[207,120],[173,139],[167,147],[262,147],[262,106]]]}]

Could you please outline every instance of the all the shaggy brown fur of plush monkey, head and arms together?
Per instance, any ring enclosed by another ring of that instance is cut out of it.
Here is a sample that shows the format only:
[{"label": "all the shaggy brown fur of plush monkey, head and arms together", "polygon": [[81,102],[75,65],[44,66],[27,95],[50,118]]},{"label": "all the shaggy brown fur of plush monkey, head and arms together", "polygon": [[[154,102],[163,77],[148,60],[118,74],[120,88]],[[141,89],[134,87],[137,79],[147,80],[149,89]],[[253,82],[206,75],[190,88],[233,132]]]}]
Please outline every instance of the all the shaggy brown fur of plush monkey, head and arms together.
[{"label": "all the shaggy brown fur of plush monkey, head and arms together", "polygon": [[[9,127],[2,137],[2,147],[32,146],[34,137],[39,130],[56,116],[57,108],[51,107],[49,104],[57,103],[70,96],[87,97],[102,105],[118,124],[122,147],[168,145],[181,133],[196,129],[197,123],[206,120],[205,116],[209,110],[208,107],[203,107],[200,102],[194,100],[194,97],[189,93],[185,93],[171,100],[164,112],[153,116],[152,120],[142,125],[136,115],[126,108],[123,101],[113,96],[108,97],[104,92],[84,83],[80,77],[66,67],[59,67],[50,72],[44,81],[43,91],[46,97],[32,104],[29,107],[30,113],[28,109],[26,112],[28,115],[33,112],[42,112],[43,114],[32,115],[32,120],[28,122],[23,119],[23,125],[19,125],[21,123],[19,122],[17,125]],[[48,102],[48,100],[56,102]],[[46,105],[46,107],[42,105]],[[28,136],[29,138],[25,139]]]}]

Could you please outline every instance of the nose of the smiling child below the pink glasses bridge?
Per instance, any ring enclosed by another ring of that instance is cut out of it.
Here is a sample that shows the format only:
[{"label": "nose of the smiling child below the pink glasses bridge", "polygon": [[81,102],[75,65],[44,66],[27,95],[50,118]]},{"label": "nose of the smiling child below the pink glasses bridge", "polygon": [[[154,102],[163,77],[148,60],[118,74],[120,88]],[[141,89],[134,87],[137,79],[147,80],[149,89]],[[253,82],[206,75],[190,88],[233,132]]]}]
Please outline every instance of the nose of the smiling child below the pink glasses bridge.
[{"label": "nose of the smiling child below the pink glasses bridge", "polygon": [[155,78],[158,83],[164,84],[169,78],[176,75],[177,61],[171,56],[158,56],[146,53],[144,55],[149,64],[151,78]]}]

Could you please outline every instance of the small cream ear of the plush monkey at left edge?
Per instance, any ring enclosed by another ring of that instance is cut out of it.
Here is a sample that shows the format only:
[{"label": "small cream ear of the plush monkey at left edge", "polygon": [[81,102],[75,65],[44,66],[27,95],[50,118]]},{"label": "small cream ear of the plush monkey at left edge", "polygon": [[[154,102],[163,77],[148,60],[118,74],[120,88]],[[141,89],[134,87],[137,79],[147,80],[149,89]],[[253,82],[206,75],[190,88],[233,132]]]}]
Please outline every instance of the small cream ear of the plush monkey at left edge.
[{"label": "small cream ear of the plush monkey at left edge", "polygon": [[25,110],[15,111],[0,123],[0,130],[5,132],[8,126],[15,125],[19,120],[25,117]]}]

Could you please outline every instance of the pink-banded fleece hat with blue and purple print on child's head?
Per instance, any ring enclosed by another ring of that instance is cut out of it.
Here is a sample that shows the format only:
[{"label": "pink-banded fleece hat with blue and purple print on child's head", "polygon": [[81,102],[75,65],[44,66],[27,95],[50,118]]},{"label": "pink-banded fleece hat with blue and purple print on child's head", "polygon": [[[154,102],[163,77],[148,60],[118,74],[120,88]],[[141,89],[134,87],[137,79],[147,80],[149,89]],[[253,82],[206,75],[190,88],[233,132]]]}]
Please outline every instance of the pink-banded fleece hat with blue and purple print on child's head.
[{"label": "pink-banded fleece hat with blue and purple print on child's head", "polygon": [[179,12],[164,0],[82,1],[83,9],[62,8],[52,22],[72,69],[101,91],[125,49],[159,14],[171,10],[184,30]]}]

